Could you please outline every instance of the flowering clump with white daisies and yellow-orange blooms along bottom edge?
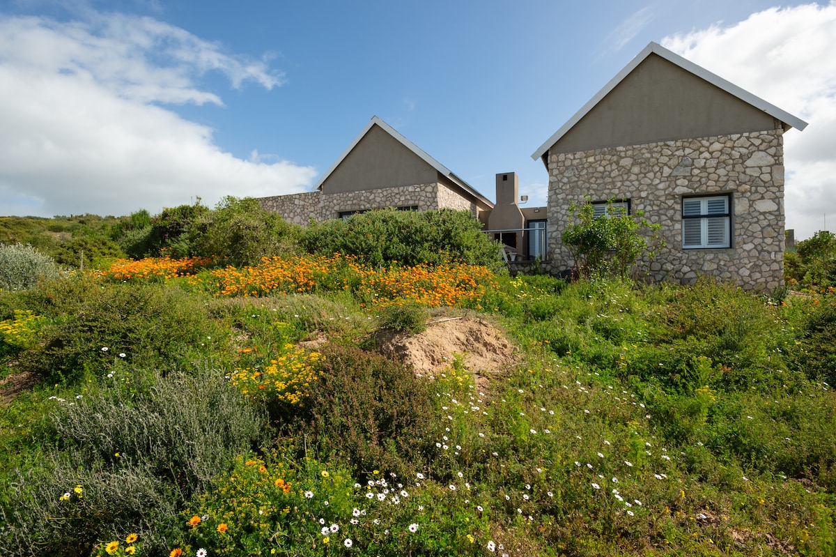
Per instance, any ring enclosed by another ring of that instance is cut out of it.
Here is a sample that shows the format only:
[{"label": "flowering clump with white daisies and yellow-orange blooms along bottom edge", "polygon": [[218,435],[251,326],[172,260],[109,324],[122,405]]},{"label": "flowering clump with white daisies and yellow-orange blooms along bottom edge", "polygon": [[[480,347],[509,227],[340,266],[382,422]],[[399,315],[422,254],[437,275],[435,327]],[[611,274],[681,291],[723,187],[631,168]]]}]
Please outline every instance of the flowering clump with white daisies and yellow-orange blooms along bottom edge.
[{"label": "flowering clump with white daisies and yellow-orange blooms along bottom edge", "polygon": [[[481,555],[487,547],[485,515],[462,504],[466,488],[378,470],[361,484],[339,466],[293,462],[293,452],[237,458],[182,515],[184,547],[222,555]],[[470,510],[448,510],[462,506]]]}]

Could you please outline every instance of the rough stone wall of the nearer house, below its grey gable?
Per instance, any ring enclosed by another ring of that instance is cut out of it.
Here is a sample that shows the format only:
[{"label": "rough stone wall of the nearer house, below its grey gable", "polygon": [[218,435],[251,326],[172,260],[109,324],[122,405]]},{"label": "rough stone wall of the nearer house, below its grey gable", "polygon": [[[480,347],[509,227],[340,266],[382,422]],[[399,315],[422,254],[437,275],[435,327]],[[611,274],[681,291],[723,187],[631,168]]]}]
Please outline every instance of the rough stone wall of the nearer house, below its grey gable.
[{"label": "rough stone wall of the nearer house, below its grey gable", "polygon": [[[652,281],[694,283],[701,275],[747,289],[783,286],[782,129],[548,155],[548,246],[554,268],[571,268],[560,242],[570,202],[629,199],[659,223],[666,246],[643,262]],[[682,200],[727,194],[730,248],[683,248]]]}]

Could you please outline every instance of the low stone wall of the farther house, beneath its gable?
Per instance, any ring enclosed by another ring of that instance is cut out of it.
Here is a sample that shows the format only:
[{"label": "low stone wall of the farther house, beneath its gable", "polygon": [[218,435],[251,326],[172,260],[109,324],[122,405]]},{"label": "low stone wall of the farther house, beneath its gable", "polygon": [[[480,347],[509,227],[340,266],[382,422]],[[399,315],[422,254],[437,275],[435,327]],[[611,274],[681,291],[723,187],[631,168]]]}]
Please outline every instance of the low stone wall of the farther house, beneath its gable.
[{"label": "low stone wall of the farther house, beneath its gable", "polygon": [[339,218],[339,213],[368,211],[386,207],[418,207],[419,211],[441,208],[466,209],[477,215],[476,204],[440,183],[384,187],[359,192],[304,192],[286,196],[262,197],[258,201],[268,211],[278,212],[293,224],[306,225]]}]

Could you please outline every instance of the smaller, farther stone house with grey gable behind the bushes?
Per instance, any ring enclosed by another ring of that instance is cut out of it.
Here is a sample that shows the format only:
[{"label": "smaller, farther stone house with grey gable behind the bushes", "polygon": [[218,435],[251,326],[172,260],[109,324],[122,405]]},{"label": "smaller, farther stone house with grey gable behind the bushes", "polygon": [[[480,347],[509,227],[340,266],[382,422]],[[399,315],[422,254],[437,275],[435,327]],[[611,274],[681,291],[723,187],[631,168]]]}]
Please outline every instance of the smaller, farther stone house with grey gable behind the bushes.
[{"label": "smaller, farther stone house with grey gable behind the bushes", "polygon": [[387,207],[451,208],[487,219],[493,208],[490,200],[377,116],[319,178],[313,192],[259,201],[299,225]]}]

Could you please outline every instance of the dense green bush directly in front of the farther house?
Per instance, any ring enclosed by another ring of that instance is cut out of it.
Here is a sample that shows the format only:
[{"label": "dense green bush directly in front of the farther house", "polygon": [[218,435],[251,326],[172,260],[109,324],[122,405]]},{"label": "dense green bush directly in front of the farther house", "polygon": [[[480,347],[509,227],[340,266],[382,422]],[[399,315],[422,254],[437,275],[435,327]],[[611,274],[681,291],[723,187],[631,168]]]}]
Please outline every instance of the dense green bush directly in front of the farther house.
[{"label": "dense green bush directly in front of the farther house", "polygon": [[419,265],[462,261],[502,268],[496,243],[468,211],[386,209],[312,223],[300,240],[309,253],[344,253],[371,265]]}]

